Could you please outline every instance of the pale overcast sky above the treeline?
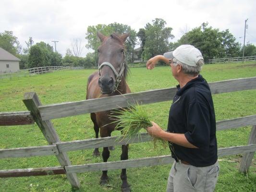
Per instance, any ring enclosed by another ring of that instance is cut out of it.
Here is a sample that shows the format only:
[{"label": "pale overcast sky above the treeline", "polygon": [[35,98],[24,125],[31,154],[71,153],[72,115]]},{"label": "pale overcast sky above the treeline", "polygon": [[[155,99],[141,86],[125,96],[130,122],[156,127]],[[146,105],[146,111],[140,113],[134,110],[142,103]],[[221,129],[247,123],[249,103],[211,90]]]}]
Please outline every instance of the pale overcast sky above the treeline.
[{"label": "pale overcast sky above the treeline", "polygon": [[[229,29],[244,42],[256,45],[256,0],[1,0],[0,32],[12,31],[23,48],[32,36],[65,55],[73,38],[82,39],[89,25],[120,23],[138,32],[146,23],[162,18],[178,40],[183,32],[208,22],[219,30]],[[84,48],[82,56],[90,50]]]}]

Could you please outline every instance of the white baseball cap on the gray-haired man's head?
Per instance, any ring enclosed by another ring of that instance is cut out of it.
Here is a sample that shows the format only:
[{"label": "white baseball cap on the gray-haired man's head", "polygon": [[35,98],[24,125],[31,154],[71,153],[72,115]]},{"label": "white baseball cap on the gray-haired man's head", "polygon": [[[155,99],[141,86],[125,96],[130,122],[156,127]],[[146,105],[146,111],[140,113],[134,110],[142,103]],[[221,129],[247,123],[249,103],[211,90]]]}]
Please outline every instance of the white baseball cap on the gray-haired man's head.
[{"label": "white baseball cap on the gray-haired man's head", "polygon": [[192,45],[181,45],[174,51],[164,53],[168,59],[176,58],[182,63],[195,67],[198,60],[203,60],[202,53]]}]

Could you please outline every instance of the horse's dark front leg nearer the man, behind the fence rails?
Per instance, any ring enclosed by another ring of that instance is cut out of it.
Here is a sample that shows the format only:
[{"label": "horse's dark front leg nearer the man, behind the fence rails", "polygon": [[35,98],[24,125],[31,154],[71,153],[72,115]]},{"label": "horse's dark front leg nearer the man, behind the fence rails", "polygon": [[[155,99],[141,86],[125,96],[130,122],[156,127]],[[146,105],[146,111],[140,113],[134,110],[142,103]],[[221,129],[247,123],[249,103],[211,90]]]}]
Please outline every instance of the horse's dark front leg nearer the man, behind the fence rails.
[{"label": "horse's dark front leg nearer the man, behind the fence rails", "polygon": [[[128,144],[122,145],[122,155],[121,160],[127,160],[128,159]],[[122,192],[131,192],[130,185],[127,182],[127,176],[126,176],[126,168],[122,169],[121,172],[121,180],[122,180]]]}]

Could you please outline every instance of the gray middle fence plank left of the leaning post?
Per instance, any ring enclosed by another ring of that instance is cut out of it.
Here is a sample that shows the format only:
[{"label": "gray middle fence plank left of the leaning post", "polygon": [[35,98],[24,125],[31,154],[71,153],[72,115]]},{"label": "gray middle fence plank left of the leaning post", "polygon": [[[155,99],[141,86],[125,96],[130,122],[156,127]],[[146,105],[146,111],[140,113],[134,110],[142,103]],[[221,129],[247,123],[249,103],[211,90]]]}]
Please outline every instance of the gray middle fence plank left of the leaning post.
[{"label": "gray middle fence plank left of the leaning post", "polygon": [[0,158],[58,155],[57,145],[0,149]]}]

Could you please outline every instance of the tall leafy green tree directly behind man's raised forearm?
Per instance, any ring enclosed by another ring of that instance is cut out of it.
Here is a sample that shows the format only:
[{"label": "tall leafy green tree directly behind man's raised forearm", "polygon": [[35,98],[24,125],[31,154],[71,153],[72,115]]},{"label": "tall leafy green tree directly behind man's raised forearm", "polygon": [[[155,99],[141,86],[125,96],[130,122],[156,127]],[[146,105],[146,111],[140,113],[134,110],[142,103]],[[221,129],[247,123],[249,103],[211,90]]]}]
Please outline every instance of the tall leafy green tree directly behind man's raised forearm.
[{"label": "tall leafy green tree directly behind man's raised forearm", "polygon": [[142,43],[145,41],[142,53],[144,60],[148,60],[158,54],[163,54],[168,50],[169,39],[174,36],[171,35],[172,28],[165,25],[166,22],[163,19],[156,18],[152,20],[152,24],[146,24],[145,36],[143,30],[140,30],[140,40]]}]

